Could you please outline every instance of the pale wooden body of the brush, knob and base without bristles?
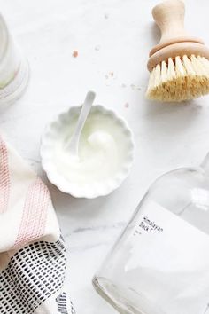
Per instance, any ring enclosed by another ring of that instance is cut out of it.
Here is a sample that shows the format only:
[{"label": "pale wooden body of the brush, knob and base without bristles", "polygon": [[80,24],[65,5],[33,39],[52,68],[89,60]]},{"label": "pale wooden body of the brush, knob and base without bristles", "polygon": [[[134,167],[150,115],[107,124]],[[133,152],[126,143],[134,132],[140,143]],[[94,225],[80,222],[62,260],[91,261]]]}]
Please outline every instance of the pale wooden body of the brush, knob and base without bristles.
[{"label": "pale wooden body of the brush, knob and base without bristles", "polygon": [[176,56],[194,54],[209,59],[209,49],[202,40],[187,35],[184,30],[185,7],[182,0],[166,0],[154,7],[152,15],[161,30],[161,40],[150,52],[149,71]]}]

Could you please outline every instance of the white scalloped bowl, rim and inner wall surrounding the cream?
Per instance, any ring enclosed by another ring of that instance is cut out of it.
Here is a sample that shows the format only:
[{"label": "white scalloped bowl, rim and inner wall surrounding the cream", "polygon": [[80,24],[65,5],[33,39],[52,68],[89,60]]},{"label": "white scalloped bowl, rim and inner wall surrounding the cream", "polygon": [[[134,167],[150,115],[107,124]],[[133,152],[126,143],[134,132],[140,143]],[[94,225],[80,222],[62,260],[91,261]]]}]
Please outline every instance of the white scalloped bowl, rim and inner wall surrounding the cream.
[{"label": "white scalloped bowl, rim and inner wall surrounding the cream", "polygon": [[[53,155],[56,149],[56,143],[63,137],[70,123],[75,124],[80,112],[81,106],[71,107],[66,113],[59,114],[55,121],[47,125],[43,132],[41,143],[42,164],[50,182],[57,185],[60,191],[69,193],[76,198],[93,199],[111,193],[128,177],[134,159],[134,141],[132,132],[124,119],[118,117],[112,110],[105,109],[104,106],[92,106],[89,117],[91,114],[97,115],[98,118],[99,116],[105,116],[110,123],[117,125],[118,131],[120,132],[119,139],[121,140],[121,138],[123,138],[126,154],[120,164],[119,171],[104,182],[96,181],[90,184],[78,184],[67,180],[66,177],[63,177],[59,173]],[[117,138],[115,139],[117,140]]]}]

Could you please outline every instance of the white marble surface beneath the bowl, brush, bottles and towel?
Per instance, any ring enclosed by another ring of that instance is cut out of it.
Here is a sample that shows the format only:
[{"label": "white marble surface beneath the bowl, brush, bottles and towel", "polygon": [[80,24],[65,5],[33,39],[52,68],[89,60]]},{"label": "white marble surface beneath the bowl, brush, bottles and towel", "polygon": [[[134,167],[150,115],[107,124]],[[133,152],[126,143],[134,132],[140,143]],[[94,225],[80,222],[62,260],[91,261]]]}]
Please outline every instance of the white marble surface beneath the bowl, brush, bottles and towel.
[{"label": "white marble surface beneath the bowl, brush, bottles and towel", "polygon": [[[0,0],[31,67],[26,94],[0,109],[0,128],[48,184],[68,249],[67,286],[79,314],[113,314],[91,279],[151,182],[196,165],[209,150],[209,98],[162,105],[144,99],[148,51],[159,39],[154,0]],[[186,1],[187,28],[208,41],[208,1]],[[195,22],[194,22],[195,21]],[[79,52],[76,59],[73,51]],[[124,116],[135,135],[135,163],[120,189],[75,200],[46,179],[39,156],[44,125],[80,104],[86,91]],[[126,105],[128,104],[128,105]]]}]

